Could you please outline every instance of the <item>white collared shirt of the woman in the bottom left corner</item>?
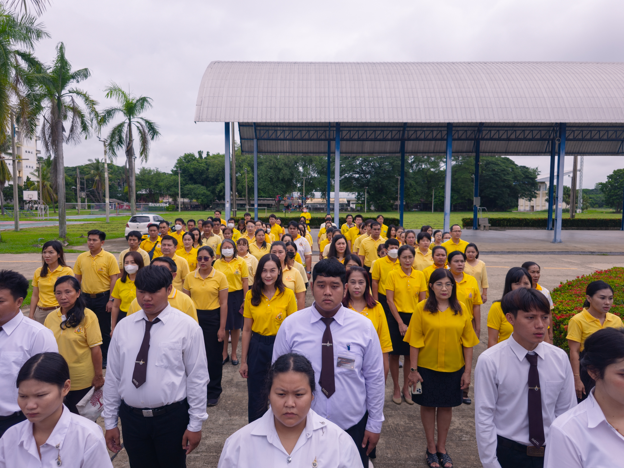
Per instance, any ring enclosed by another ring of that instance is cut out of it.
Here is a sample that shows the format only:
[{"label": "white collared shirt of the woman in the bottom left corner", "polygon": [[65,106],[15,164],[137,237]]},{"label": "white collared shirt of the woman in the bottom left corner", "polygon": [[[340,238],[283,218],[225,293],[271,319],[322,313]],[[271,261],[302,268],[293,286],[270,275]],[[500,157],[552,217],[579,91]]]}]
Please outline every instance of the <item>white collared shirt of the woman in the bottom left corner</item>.
[{"label": "white collared shirt of the woman in the bottom left corner", "polygon": [[[32,422],[9,427],[0,439],[0,468],[112,468],[102,428],[63,405],[61,419],[45,444],[32,436]],[[61,457],[61,463],[57,465]]]}]

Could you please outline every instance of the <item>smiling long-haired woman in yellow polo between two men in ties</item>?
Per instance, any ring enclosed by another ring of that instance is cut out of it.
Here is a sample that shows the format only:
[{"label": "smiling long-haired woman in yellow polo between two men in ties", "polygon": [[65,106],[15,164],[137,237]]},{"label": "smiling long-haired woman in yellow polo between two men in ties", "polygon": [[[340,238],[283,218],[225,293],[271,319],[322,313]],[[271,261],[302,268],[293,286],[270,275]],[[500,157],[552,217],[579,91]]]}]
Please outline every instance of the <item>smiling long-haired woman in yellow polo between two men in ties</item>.
[{"label": "smiling long-haired woman in yellow polo between two men in ties", "polygon": [[262,417],[266,399],[258,388],[264,384],[273,358],[273,343],[282,321],[297,311],[295,293],[284,286],[281,262],[269,253],[258,262],[253,286],[245,296],[243,351],[238,371],[247,379],[249,422]]}]

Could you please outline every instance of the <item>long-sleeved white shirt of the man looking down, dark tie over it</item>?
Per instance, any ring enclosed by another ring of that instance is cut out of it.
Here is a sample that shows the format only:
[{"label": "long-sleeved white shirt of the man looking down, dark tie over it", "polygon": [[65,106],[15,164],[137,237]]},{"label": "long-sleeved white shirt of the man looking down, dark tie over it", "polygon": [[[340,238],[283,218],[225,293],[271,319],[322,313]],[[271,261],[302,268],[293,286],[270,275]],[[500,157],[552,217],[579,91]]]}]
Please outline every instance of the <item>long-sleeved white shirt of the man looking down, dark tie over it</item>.
[{"label": "long-sleeved white shirt of the man looking down, dark tie over it", "polygon": [[206,414],[208,364],[203,333],[195,320],[167,305],[150,329],[147,381],[135,388],[134,361],[145,334],[145,312],[127,316],[110,341],[104,383],[104,424],[117,427],[122,400],[135,408],[157,408],[188,399],[189,431],[201,431]]}]

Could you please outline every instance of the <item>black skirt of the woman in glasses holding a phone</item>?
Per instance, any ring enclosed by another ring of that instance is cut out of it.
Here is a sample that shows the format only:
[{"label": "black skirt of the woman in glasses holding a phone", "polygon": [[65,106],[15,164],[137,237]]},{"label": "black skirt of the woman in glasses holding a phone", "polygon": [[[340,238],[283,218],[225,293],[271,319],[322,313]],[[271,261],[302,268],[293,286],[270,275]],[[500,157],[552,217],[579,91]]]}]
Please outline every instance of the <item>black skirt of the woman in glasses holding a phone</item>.
[{"label": "black skirt of the woman in glasses holding a phone", "polygon": [[435,408],[448,408],[462,404],[463,367],[455,372],[440,372],[418,366],[418,373],[422,377],[422,393],[412,393],[414,403]]}]

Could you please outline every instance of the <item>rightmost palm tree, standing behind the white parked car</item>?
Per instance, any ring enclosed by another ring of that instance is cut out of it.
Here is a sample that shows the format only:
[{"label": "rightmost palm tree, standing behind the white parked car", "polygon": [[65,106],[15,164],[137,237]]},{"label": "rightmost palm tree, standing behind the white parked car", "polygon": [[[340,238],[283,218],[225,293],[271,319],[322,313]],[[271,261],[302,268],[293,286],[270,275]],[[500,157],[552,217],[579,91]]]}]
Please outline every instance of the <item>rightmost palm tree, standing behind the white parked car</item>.
[{"label": "rightmost palm tree, standing behind the white parked car", "polygon": [[106,137],[107,147],[111,157],[117,157],[117,150],[124,149],[125,158],[130,172],[128,195],[130,198],[130,214],[137,213],[137,184],[134,167],[134,137],[132,127],[137,129],[139,134],[139,155],[143,162],[147,162],[150,154],[150,143],[160,136],[158,125],[152,120],[139,117],[147,109],[152,108],[152,99],[147,96],[136,97],[130,92],[125,92],[115,83],[111,83],[105,89],[106,97],[116,99],[117,107],[109,107],[102,111],[99,125],[104,126],[117,114],[122,114],[124,120],[115,125]]}]

